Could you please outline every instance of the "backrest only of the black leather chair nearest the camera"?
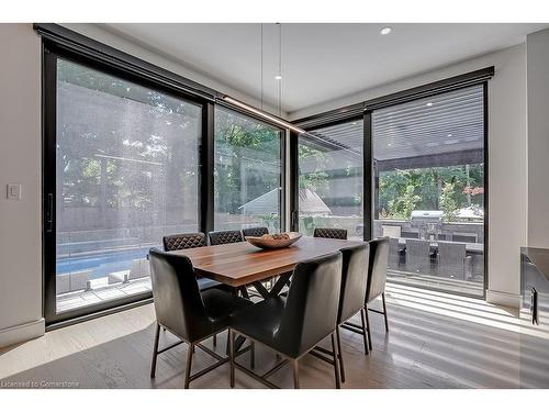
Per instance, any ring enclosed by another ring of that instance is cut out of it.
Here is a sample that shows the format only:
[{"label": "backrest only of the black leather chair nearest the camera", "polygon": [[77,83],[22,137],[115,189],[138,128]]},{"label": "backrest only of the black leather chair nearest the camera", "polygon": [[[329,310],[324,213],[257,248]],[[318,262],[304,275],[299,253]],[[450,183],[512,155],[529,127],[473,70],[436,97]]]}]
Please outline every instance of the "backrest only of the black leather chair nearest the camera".
[{"label": "backrest only of the black leather chair nearest the camera", "polygon": [[299,357],[336,329],[341,253],[299,263],[276,339],[283,353]]}]

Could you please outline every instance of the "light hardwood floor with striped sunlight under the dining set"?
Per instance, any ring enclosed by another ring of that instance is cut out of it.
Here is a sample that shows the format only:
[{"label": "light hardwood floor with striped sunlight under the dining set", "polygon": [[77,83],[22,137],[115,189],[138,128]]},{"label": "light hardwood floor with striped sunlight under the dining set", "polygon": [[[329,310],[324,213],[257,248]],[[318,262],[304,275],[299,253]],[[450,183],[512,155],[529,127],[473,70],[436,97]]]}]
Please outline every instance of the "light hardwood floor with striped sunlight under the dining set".
[{"label": "light hardwood floor with striped sunlight under the dining set", "polygon": [[[549,336],[520,321],[513,310],[401,285],[388,286],[386,298],[390,333],[384,333],[382,316],[371,313],[369,356],[359,335],[341,331],[347,377],[343,388],[549,388]],[[156,379],[149,379],[154,320],[153,305],[147,304],[0,349],[0,387],[36,382],[38,387],[181,388],[186,345],[161,354]],[[217,339],[221,354],[225,337]],[[161,345],[170,342],[176,339],[161,333]],[[256,370],[277,363],[268,349],[256,350]],[[197,349],[193,370],[211,363]],[[228,378],[224,365],[191,382],[191,388],[228,388]],[[288,367],[270,379],[283,388],[293,386]],[[300,382],[302,388],[334,388],[332,367],[305,356]],[[236,371],[236,388],[264,387]]]}]

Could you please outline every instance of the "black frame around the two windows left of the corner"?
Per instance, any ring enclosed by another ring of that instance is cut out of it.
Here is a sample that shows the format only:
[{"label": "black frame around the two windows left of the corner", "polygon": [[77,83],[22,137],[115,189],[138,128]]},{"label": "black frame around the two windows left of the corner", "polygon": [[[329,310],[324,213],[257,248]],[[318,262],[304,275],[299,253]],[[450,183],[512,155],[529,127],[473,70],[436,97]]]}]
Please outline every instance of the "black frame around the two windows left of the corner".
[{"label": "black frame around the two windows left of the corner", "polygon": [[[46,330],[102,316],[153,301],[152,292],[81,307],[56,313],[56,98],[57,58],[74,62],[136,85],[153,88],[202,107],[199,147],[199,226],[214,230],[214,111],[226,107],[243,116],[256,119],[280,131],[281,227],[285,230],[287,130],[280,125],[225,102],[222,93],[192,80],[148,64],[100,42],[57,24],[35,24],[42,35],[42,279],[43,316]],[[159,240],[160,242],[160,240]]]}]

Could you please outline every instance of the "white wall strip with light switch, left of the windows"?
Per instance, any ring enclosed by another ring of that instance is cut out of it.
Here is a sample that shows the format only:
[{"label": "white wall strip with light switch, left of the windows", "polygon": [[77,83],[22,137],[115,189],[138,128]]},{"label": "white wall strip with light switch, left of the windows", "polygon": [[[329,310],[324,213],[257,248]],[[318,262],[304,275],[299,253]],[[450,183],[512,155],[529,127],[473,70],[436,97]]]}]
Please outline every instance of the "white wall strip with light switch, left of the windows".
[{"label": "white wall strip with light switch, left of the windows", "polygon": [[[0,347],[44,333],[41,48],[31,24],[0,24]],[[22,185],[21,200],[5,186]]]}]

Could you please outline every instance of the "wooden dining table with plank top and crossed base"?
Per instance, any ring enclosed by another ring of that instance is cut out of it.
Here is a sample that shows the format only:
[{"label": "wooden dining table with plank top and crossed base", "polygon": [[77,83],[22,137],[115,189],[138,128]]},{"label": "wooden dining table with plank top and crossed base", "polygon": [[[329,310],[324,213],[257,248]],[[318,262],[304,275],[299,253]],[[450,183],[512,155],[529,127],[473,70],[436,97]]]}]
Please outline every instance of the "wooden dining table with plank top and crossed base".
[{"label": "wooden dining table with plank top and crossed base", "polygon": [[[302,237],[290,247],[260,249],[247,242],[195,247],[170,253],[189,257],[197,275],[234,288],[253,286],[264,298],[278,296],[300,261],[362,242]],[[262,281],[279,277],[270,290]]]}]

